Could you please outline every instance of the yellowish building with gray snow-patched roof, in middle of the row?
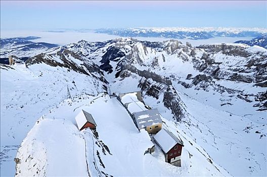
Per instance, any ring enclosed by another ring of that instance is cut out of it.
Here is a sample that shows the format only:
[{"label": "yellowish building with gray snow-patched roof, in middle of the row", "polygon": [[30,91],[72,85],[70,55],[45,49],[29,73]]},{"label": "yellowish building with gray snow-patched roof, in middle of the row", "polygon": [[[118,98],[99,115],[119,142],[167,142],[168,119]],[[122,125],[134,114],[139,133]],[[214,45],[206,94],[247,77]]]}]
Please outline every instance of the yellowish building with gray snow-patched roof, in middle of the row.
[{"label": "yellowish building with gray snow-patched roof, in middle of the row", "polygon": [[157,109],[133,113],[133,121],[138,129],[145,128],[149,134],[157,134],[161,129],[162,120]]}]

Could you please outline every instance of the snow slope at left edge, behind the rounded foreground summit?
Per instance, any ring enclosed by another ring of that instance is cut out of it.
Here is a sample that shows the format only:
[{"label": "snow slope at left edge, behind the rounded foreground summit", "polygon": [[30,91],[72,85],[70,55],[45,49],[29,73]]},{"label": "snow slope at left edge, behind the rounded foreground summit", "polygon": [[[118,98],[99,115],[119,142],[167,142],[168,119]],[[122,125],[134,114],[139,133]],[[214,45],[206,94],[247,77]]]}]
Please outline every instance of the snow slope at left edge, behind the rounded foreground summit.
[{"label": "snow slope at left edge, behind the rounded foreground summit", "polygon": [[[65,57],[71,60],[70,56]],[[44,63],[28,67],[1,65],[1,176],[15,174],[13,159],[17,149],[41,115],[69,95],[105,92],[106,83],[98,78],[101,74],[87,72],[85,75]]]}]

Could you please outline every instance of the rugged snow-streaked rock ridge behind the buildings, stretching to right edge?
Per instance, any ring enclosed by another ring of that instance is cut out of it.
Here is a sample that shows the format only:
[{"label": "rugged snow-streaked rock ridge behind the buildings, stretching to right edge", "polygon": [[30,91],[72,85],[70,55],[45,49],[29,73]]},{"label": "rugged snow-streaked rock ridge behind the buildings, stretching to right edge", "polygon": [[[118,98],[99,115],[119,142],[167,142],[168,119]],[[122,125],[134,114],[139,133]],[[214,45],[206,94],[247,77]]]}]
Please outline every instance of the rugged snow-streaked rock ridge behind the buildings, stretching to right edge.
[{"label": "rugged snow-streaked rock ridge behind the buildings, stretching to right edge", "polygon": [[[246,45],[202,45],[193,48],[190,43],[183,45],[177,40],[149,42],[132,38],[119,38],[103,43],[105,48],[100,45],[101,47],[97,49],[96,45],[90,55],[85,50],[87,47],[82,48],[82,43],[78,49],[73,47],[71,50],[81,51],[89,59],[97,59],[102,63],[100,69],[108,73],[115,72],[115,78],[119,78],[120,81],[133,76],[133,73],[135,78],[139,76],[146,79],[146,82],[140,83],[142,90],[150,88],[148,81],[152,80],[153,86],[147,94],[154,98],[159,98],[162,90],[158,84],[170,87],[178,83],[186,89],[194,88],[207,92],[211,89],[251,103],[256,93],[242,95],[240,88],[233,89],[221,84],[220,80],[266,86],[267,52],[250,49]],[[171,76],[179,71],[175,67],[174,70],[170,67],[175,66],[176,62],[180,62],[179,67],[183,67],[182,63],[191,67],[189,73],[183,73],[181,77],[175,74]],[[178,114],[177,111],[175,112]]]}]

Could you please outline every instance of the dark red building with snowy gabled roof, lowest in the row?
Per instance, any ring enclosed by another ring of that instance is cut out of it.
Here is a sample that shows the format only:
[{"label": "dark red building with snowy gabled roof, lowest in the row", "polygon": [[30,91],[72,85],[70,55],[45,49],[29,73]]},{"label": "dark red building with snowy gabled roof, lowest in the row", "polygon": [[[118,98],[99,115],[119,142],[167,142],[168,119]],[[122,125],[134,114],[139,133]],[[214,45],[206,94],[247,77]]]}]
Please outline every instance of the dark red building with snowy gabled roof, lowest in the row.
[{"label": "dark red building with snowy gabled roof, lowest in the row", "polygon": [[165,155],[165,162],[181,167],[181,155],[184,143],[175,137],[172,132],[162,128],[153,139]]}]

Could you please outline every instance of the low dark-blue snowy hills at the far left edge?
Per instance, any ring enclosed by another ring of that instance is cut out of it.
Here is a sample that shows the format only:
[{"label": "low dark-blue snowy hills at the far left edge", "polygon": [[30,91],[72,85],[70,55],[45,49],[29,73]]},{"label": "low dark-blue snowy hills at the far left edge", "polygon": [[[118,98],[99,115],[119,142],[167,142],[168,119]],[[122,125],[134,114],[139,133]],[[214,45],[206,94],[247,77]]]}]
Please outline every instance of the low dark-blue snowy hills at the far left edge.
[{"label": "low dark-blue snowy hills at the far left edge", "polygon": [[33,57],[48,49],[58,46],[53,43],[31,41],[38,38],[40,37],[28,36],[28,37],[2,38],[0,40],[1,60],[3,58],[8,58],[11,55],[15,55],[17,57]]}]

